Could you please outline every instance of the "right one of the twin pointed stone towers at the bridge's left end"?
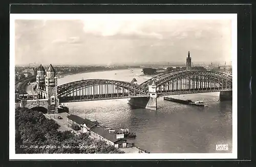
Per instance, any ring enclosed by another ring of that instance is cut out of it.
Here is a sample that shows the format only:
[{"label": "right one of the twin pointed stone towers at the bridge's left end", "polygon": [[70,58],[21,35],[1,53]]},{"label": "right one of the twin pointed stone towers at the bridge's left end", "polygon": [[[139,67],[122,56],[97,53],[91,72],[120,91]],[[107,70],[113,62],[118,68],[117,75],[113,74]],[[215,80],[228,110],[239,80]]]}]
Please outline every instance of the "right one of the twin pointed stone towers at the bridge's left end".
[{"label": "right one of the twin pointed stone towers at the bridge's left end", "polygon": [[57,98],[57,77],[56,71],[51,64],[46,71],[45,84],[47,99],[49,101],[49,113],[57,113],[57,106],[59,105]]}]

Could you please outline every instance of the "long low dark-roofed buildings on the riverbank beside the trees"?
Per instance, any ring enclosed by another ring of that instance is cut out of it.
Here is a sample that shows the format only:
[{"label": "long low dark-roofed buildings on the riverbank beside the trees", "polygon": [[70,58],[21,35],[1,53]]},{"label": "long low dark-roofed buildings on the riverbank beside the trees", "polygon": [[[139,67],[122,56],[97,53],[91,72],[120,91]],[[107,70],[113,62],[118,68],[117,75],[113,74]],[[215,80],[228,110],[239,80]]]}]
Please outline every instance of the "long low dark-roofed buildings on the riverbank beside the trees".
[{"label": "long low dark-roofed buildings on the riverbank beside the trees", "polygon": [[115,148],[132,147],[132,144],[127,143],[124,139],[124,134],[116,134],[113,130],[102,127],[97,121],[83,119],[76,115],[69,115],[67,119],[69,127],[83,133],[89,133],[94,139],[104,141],[109,146]]}]

